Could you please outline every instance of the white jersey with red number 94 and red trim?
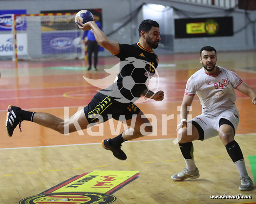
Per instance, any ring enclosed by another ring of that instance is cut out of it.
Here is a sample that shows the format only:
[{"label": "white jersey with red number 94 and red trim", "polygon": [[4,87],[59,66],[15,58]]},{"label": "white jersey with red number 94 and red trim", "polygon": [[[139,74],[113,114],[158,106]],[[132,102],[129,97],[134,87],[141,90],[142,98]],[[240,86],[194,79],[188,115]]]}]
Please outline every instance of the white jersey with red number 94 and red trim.
[{"label": "white jersey with red number 94 and red trim", "polygon": [[236,109],[234,89],[243,80],[235,72],[223,67],[219,68],[220,72],[217,75],[210,75],[202,67],[187,80],[185,94],[189,96],[197,94],[202,113],[217,115],[226,109]]}]

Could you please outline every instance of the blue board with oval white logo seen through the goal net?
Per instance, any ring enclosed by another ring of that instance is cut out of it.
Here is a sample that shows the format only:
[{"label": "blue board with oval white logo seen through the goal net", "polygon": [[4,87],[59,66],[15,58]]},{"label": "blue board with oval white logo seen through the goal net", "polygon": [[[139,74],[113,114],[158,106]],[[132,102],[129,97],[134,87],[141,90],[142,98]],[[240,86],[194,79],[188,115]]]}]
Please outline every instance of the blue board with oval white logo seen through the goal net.
[{"label": "blue board with oval white logo seen through the goal net", "polygon": [[81,52],[79,31],[42,33],[43,54],[62,54],[70,52]]}]

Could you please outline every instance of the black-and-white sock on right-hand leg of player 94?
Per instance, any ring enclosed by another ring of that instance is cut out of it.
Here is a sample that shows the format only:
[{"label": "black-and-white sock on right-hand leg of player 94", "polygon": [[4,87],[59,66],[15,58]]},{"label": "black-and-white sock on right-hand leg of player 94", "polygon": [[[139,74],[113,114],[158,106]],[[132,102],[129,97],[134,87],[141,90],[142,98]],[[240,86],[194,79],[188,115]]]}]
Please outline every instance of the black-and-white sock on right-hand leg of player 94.
[{"label": "black-and-white sock on right-hand leg of player 94", "polygon": [[246,167],[245,167],[245,160],[243,157],[243,153],[238,145],[238,143],[234,140],[228,144],[226,144],[226,150],[228,152],[228,155],[236,165],[236,168],[238,169],[241,176],[248,176]]}]

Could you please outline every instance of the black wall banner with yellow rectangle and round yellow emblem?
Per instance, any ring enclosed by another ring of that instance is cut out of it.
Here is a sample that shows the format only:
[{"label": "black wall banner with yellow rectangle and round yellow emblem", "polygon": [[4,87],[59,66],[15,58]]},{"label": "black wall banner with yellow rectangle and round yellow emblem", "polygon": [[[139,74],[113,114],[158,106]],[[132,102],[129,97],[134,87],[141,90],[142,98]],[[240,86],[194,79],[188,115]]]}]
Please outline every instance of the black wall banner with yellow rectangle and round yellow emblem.
[{"label": "black wall banner with yellow rectangle and round yellow emblem", "polygon": [[233,17],[175,19],[175,38],[233,36]]}]

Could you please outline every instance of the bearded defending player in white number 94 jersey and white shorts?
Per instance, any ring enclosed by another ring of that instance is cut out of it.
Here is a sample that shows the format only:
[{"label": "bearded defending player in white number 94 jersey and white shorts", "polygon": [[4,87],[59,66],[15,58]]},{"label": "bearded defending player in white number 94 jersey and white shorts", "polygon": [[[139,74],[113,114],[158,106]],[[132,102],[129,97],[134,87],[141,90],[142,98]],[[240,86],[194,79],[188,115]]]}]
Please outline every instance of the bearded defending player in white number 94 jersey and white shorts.
[{"label": "bearded defending player in white number 94 jersey and white shorts", "polygon": [[[187,81],[181,104],[181,123],[177,126],[179,146],[187,168],[172,175],[171,178],[174,181],[198,178],[200,175],[194,161],[192,141],[205,140],[219,135],[240,173],[241,186],[239,190],[248,191],[253,188],[253,181],[246,171],[243,153],[234,140],[239,122],[234,89],[249,96],[254,105],[256,104],[256,91],[243,82],[236,73],[216,66],[217,52],[215,48],[202,47],[199,59],[203,67]],[[195,94],[200,99],[202,114],[187,122],[188,108],[191,106]],[[192,129],[192,135],[187,133],[189,126]]]}]

